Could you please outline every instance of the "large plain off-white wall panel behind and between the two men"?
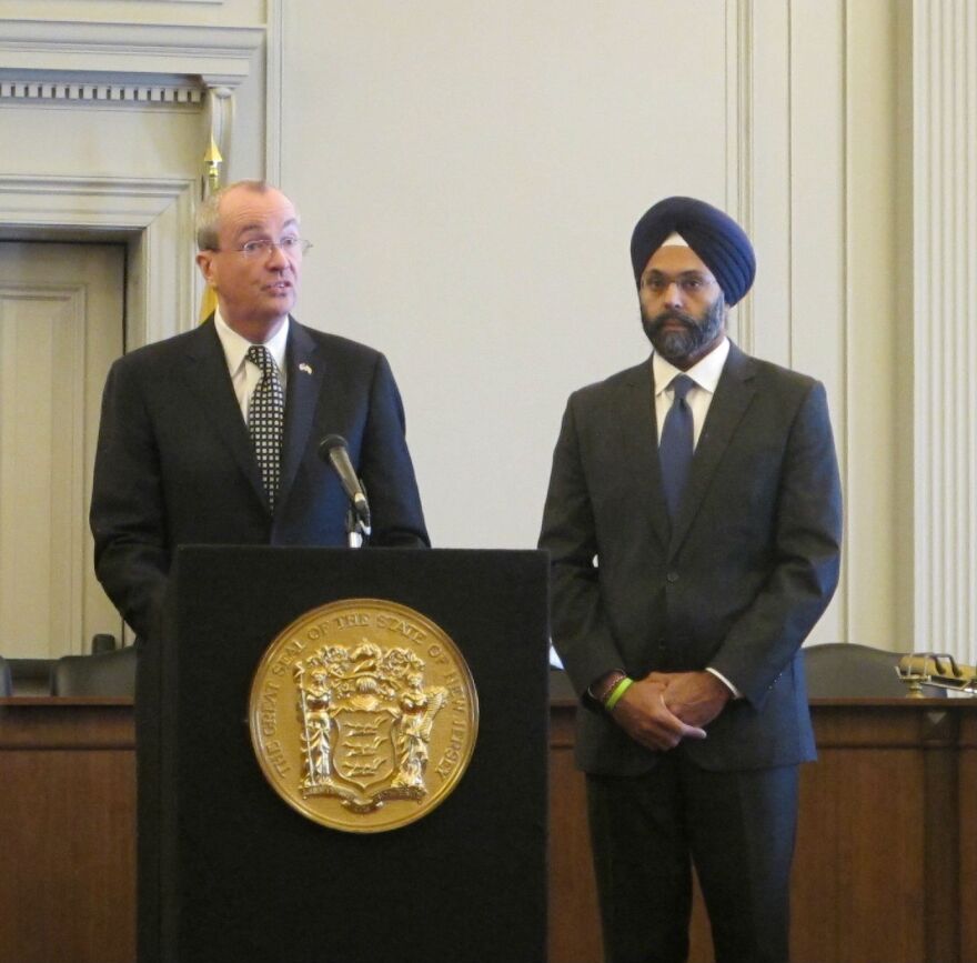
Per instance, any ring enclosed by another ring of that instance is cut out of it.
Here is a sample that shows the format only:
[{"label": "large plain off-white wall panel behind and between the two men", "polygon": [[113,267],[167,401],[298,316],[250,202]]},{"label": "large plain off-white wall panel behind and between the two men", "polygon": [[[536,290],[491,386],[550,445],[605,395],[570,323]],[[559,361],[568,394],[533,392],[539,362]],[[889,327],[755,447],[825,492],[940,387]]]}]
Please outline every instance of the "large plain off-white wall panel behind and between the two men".
[{"label": "large plain off-white wall panel behind and between the two men", "polygon": [[631,230],[725,202],[722,3],[284,8],[300,315],[386,351],[437,545],[535,544],[568,392],[647,354]]}]

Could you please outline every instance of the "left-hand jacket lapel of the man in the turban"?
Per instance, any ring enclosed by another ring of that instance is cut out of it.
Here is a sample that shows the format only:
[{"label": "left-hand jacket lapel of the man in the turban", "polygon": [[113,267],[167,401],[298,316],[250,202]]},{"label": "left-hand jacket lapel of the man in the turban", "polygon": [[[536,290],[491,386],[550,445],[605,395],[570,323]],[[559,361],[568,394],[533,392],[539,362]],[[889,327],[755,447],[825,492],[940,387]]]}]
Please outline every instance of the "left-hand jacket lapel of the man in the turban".
[{"label": "left-hand jacket lapel of the man in the turban", "polygon": [[646,504],[652,529],[663,545],[668,544],[668,512],[658,464],[658,430],[655,422],[655,382],[651,361],[632,368],[613,404],[621,433],[626,470],[634,472],[634,488]]}]

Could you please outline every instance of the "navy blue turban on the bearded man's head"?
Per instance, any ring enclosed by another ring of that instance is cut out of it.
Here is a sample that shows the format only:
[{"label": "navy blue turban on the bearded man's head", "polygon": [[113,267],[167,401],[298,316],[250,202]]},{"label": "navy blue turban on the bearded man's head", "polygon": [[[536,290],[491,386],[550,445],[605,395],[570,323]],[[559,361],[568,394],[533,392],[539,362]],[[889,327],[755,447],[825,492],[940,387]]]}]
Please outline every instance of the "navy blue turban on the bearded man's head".
[{"label": "navy blue turban on the bearded man's head", "polygon": [[682,235],[713,272],[731,308],[746,294],[756,275],[756,257],[749,238],[728,214],[695,198],[665,198],[635,224],[631,235],[631,263],[636,282],[641,283],[652,254],[674,232]]}]

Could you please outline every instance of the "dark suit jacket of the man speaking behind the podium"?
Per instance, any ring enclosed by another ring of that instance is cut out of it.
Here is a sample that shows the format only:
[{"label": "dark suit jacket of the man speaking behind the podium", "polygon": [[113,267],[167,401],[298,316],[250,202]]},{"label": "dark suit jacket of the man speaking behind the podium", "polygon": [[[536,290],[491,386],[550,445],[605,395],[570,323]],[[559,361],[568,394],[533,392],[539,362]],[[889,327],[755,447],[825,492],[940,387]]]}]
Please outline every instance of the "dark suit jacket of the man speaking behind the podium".
[{"label": "dark suit jacket of the man speaking behind the podium", "polygon": [[370,498],[372,542],[426,545],[386,359],[291,321],[282,480],[269,511],[213,320],[120,358],[109,372],[92,486],[99,580],[149,634],[180,544],[343,545],[348,500],[316,453],[349,442]]}]

